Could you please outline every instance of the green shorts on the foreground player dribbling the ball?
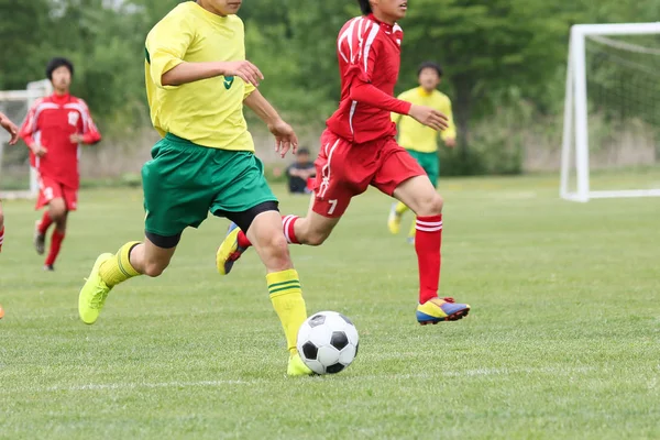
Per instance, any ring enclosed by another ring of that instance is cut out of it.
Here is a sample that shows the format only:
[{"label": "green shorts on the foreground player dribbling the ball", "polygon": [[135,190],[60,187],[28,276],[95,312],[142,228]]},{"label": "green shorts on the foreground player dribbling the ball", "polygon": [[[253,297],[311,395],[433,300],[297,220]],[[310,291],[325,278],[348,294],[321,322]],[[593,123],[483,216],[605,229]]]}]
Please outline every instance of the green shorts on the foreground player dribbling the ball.
[{"label": "green shorts on the foreground player dribbling the ball", "polygon": [[210,211],[224,217],[277,201],[252,152],[209,148],[167,134],[142,167],[145,231],[174,237]]}]

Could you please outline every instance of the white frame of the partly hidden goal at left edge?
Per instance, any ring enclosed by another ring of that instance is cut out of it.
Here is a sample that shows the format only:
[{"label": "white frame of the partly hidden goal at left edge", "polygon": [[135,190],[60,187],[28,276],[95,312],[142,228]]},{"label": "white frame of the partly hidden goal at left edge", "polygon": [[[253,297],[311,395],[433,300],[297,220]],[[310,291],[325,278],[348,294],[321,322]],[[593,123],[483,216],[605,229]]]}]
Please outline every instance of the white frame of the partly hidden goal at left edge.
[{"label": "white frame of the partly hidden goal at left edge", "polygon": [[[37,99],[50,96],[53,92],[53,86],[48,79],[32,81],[28,84],[24,90],[0,90],[0,111],[10,103],[23,103],[25,114],[8,114],[15,124],[20,125],[26,116],[26,112]],[[25,165],[25,185],[23,190],[2,191],[2,165],[4,157],[4,147],[9,141],[9,135],[4,130],[0,130],[0,198],[34,198],[38,193],[36,170]],[[29,172],[28,172],[29,168]]]}]

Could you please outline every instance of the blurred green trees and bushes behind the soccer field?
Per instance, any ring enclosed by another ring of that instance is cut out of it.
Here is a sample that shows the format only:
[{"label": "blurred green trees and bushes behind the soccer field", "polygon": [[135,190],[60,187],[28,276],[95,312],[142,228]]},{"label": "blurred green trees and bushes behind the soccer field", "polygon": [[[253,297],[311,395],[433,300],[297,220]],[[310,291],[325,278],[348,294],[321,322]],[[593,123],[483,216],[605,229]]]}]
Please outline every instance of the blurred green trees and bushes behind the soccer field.
[{"label": "blurred green trees and bushes behind the soccer field", "polygon": [[[0,89],[42,79],[52,56],[72,58],[73,92],[87,100],[106,135],[101,150],[110,160],[118,151],[124,157],[111,174],[139,168],[153,142],[144,38],[179,2],[0,0]],[[358,13],[354,0],[244,0],[239,13],[248,57],[266,76],[262,92],[312,150],[339,97],[336,37]],[[416,86],[420,62],[443,66],[441,89],[452,98],[460,142],[454,151],[441,148],[443,175],[552,167],[570,25],[658,18],[660,0],[414,0],[402,22],[397,91]],[[268,160],[267,136],[249,121]]]}]

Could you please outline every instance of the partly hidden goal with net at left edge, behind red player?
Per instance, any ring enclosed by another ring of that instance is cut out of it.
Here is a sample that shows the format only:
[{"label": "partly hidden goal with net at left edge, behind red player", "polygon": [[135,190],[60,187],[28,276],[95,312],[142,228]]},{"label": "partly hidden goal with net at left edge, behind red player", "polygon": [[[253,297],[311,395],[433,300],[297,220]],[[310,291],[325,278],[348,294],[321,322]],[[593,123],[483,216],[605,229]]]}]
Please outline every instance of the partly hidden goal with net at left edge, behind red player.
[{"label": "partly hidden goal with net at left edge, behind red player", "polygon": [[[30,107],[52,94],[47,79],[30,82],[25,90],[0,91],[0,111],[21,125]],[[30,167],[29,151],[19,142],[8,144],[9,134],[0,129],[0,198],[30,198],[37,194],[36,173]]]}]

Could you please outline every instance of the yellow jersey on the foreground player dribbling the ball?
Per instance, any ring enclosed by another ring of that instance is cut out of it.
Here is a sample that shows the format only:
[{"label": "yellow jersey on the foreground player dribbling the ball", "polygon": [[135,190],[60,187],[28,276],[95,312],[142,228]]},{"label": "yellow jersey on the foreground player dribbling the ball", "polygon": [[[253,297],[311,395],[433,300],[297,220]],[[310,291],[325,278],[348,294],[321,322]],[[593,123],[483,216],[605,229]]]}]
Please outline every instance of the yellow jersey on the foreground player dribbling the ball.
[{"label": "yellow jersey on the foreground player dribbling the ball", "polygon": [[186,1],[173,9],[146,36],[146,97],[154,128],[198,145],[254,151],[243,116],[243,100],[254,86],[241,78],[202,79],[163,86],[163,74],[183,62],[245,59],[243,21],[220,16]]}]

